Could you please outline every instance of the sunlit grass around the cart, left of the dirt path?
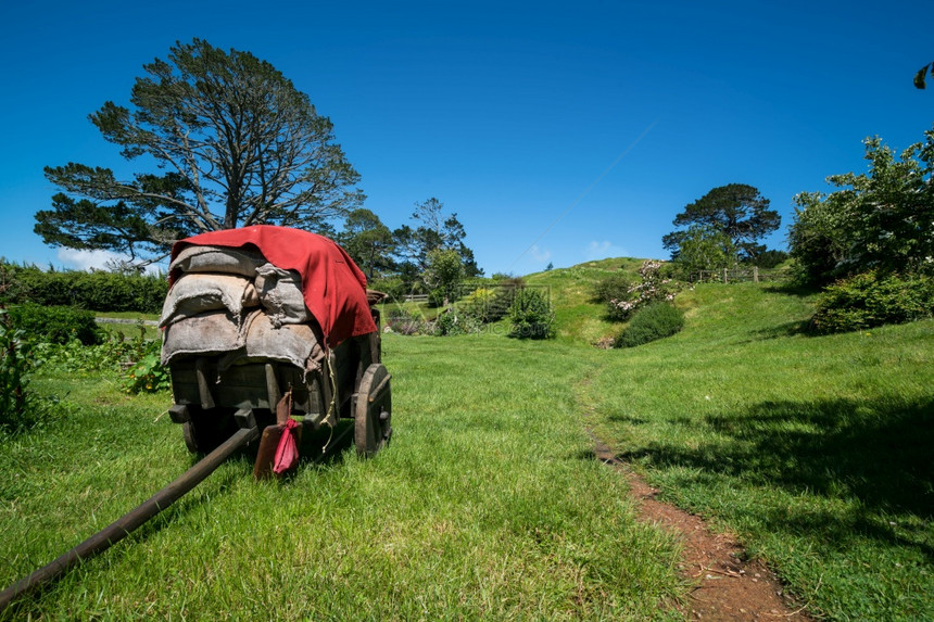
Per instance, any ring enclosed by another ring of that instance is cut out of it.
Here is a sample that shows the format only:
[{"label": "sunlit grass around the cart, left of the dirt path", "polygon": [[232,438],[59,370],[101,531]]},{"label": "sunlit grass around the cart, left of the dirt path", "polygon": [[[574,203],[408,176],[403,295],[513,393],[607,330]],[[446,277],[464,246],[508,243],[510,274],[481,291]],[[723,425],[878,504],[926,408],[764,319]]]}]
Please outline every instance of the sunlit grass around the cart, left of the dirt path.
[{"label": "sunlit grass around the cart, left of the dirt path", "polygon": [[[495,335],[384,341],[390,447],[256,484],[245,458],[15,615],[87,619],[672,619],[671,540],[593,459],[573,386],[593,356]],[[555,363],[561,365],[556,367]],[[0,446],[11,583],[190,464],[168,396],[71,384]],[[517,398],[518,397],[518,398]]]}]

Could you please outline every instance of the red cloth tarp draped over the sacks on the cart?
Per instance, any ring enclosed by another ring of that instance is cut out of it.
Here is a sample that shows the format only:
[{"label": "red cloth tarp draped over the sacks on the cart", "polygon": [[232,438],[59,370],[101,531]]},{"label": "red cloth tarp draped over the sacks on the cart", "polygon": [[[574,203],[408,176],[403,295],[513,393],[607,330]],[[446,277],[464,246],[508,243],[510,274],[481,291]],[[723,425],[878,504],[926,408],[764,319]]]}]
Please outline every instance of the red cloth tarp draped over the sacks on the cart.
[{"label": "red cloth tarp draped over the sacks on the cart", "polygon": [[[330,347],[377,330],[366,300],[366,276],[328,238],[289,227],[254,225],[179,240],[172,247],[172,258],[188,245],[254,246],[277,268],[298,271],[305,304]],[[175,282],[179,272],[174,269],[169,282]]]}]

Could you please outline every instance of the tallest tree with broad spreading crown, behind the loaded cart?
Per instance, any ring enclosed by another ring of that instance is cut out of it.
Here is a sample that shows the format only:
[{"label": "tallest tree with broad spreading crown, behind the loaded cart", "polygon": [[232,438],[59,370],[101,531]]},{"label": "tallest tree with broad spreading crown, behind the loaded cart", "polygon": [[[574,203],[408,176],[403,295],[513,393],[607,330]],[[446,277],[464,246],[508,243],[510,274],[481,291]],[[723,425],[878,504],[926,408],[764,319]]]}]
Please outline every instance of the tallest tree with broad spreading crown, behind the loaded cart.
[{"label": "tallest tree with broad spreading crown, behind the loaded cart", "polygon": [[269,63],[194,39],[143,69],[131,109],[109,101],[89,118],[126,160],[152,168],[118,179],[84,164],[46,167],[63,191],[36,214],[46,243],[147,264],[191,233],[319,230],[363,201],[331,122]]}]

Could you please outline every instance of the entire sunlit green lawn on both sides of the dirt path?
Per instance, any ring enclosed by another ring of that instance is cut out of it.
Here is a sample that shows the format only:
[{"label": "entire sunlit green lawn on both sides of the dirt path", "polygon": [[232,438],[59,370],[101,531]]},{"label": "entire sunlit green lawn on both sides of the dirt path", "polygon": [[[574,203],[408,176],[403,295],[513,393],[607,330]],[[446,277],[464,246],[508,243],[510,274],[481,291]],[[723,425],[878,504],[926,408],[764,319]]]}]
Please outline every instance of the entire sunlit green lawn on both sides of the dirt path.
[{"label": "entire sunlit green lawn on both sides of the dirt path", "polygon": [[[586,430],[664,498],[733,531],[808,610],[934,618],[934,322],[811,338],[774,285],[683,292],[683,332],[633,350],[552,270],[559,337],[388,335],[388,449],[256,484],[248,457],[8,612],[51,619],[680,619],[678,545],[636,523]],[[631,264],[631,265],[630,265]],[[167,394],[55,376],[54,419],[0,443],[0,583],[191,465]]]}]

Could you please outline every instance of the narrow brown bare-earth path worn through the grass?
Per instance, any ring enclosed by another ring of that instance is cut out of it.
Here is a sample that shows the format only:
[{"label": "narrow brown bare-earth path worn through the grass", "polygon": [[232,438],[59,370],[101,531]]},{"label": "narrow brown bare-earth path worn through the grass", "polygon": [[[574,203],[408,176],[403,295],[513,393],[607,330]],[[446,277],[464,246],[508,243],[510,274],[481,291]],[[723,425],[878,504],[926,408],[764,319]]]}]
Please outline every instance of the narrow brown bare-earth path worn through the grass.
[{"label": "narrow brown bare-earth path worn through the grass", "polygon": [[658,491],[618,460],[613,449],[595,437],[594,445],[597,458],[629,481],[640,519],[682,540],[681,571],[695,587],[678,609],[689,620],[811,620],[762,562],[744,559],[733,537],[715,534],[700,518],[659,502]]}]

